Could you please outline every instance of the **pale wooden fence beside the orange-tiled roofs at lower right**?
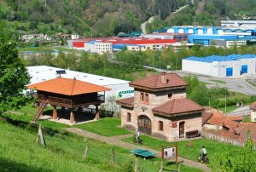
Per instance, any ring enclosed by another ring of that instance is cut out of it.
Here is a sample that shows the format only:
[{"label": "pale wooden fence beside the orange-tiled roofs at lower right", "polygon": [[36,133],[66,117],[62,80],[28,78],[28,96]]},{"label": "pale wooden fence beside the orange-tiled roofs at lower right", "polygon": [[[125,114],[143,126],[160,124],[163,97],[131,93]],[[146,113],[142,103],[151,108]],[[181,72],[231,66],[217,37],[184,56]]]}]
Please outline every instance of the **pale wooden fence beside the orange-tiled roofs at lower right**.
[{"label": "pale wooden fence beside the orange-tiled roofs at lower right", "polygon": [[[201,135],[206,137],[209,140],[218,140],[219,142],[230,143],[231,145],[235,145],[235,146],[245,146],[245,142],[246,142],[246,140],[239,140],[236,138],[230,138],[227,136],[218,135],[217,133],[207,131],[205,129],[202,129]],[[253,149],[256,150],[256,145],[254,145]]]}]

